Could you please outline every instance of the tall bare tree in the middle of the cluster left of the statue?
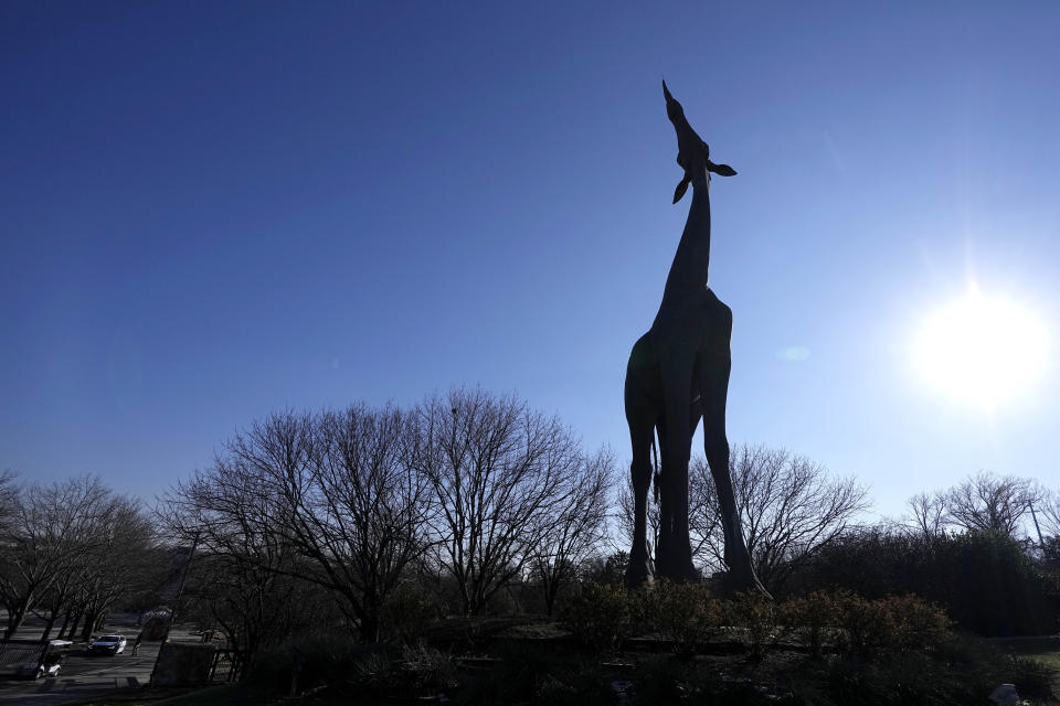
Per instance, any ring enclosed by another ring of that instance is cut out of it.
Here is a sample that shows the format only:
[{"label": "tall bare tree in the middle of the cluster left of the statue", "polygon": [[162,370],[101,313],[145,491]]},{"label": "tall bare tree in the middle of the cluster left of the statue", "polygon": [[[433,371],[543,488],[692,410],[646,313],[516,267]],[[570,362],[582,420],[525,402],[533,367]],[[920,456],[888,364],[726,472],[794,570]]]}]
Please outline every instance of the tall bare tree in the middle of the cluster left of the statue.
[{"label": "tall bare tree in the middle of the cluster left of the statue", "polygon": [[513,397],[455,389],[418,408],[417,466],[435,499],[435,559],[455,579],[460,607],[479,613],[539,556],[573,492],[581,454],[559,419]]}]

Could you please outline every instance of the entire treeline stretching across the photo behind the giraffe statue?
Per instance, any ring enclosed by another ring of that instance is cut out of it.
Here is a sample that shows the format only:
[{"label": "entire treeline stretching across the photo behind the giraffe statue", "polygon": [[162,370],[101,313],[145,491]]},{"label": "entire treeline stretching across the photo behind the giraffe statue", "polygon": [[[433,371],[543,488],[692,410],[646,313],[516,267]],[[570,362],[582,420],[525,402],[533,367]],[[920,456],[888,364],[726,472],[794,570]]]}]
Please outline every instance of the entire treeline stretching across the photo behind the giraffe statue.
[{"label": "entire treeline stretching across the photo behind the giraffe statue", "polygon": [[[1058,628],[1060,505],[1032,481],[979,474],[865,526],[866,489],[808,459],[738,447],[730,473],[777,598],[916,593],[986,634]],[[0,477],[0,600],[8,634],[31,612],[45,635],[53,623],[88,634],[108,610],[161,602],[151,586],[168,549],[193,546],[180,619],[221,629],[240,661],[312,631],[375,642],[444,616],[553,614],[582,586],[622,582],[628,483],[608,450],[586,451],[556,417],[481,389],[410,408],[277,413],[150,510],[92,478]],[[702,460],[689,501],[709,579],[724,543]]]}]

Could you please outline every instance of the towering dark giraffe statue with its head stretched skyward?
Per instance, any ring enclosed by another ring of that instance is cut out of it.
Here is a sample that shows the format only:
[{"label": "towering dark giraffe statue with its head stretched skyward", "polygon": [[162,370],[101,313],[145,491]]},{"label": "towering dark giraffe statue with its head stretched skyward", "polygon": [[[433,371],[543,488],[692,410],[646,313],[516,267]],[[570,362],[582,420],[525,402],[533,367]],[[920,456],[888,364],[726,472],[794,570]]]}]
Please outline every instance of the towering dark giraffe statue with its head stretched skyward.
[{"label": "towering dark giraffe statue with its head stretched skyward", "polygon": [[688,461],[692,434],[703,419],[707,462],[718,490],[724,530],[728,590],[755,590],[759,582],[743,539],[729,475],[725,438],[725,398],[731,366],[732,310],[707,287],[710,261],[710,175],[731,176],[728,164],[710,161],[710,149],[685,119],[685,110],[667,89],[666,113],[677,131],[677,163],[685,176],[674,193],[681,200],[689,184],[692,204],[651,328],[633,345],[626,367],[625,406],[633,445],[634,541],[626,571],[627,585],[639,586],[651,576],[647,547],[647,495],[651,484],[651,447],[659,437],[661,473],[659,538],[655,571],[659,578],[697,580],[688,536]]}]

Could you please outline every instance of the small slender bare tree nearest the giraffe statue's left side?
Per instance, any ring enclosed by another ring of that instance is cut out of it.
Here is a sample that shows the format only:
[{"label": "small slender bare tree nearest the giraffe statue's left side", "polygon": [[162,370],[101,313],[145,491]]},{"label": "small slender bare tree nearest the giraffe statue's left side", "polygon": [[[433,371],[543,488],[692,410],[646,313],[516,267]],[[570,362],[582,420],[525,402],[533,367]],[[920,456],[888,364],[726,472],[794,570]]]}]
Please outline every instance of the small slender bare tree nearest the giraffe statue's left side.
[{"label": "small slender bare tree nearest the giraffe statue's left side", "polygon": [[566,498],[558,514],[540,515],[544,523],[533,574],[541,582],[548,614],[555,608],[560,589],[574,582],[579,567],[596,549],[607,522],[607,492],[614,478],[615,458],[601,449],[582,460],[560,493]]}]

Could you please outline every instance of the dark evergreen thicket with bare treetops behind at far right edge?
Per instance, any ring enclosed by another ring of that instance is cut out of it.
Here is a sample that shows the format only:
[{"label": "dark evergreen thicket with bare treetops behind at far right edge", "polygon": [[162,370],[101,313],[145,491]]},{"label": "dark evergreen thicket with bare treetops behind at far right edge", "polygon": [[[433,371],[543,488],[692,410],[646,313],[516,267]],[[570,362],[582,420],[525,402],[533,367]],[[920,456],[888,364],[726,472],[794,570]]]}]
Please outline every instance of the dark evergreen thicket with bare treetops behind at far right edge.
[{"label": "dark evergreen thicket with bare treetops behind at far right edge", "polygon": [[[1060,502],[1034,480],[981,472],[909,500],[907,514],[845,533],[791,590],[915,593],[984,635],[1060,629]],[[1029,530],[1029,533],[1027,531]]]}]

